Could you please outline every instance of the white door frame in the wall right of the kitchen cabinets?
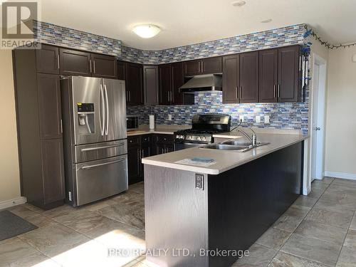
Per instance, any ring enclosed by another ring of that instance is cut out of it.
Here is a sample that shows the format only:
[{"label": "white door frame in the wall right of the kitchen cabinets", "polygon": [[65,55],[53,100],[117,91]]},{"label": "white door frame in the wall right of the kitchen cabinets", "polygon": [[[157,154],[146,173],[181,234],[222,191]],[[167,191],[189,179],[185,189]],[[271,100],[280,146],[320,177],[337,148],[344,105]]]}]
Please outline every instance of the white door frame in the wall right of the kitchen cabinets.
[{"label": "white door frame in the wall right of the kitchen cabinets", "polygon": [[[326,83],[327,83],[327,61],[319,56],[316,53],[313,53],[313,81],[310,90],[310,168],[309,168],[309,177],[310,182],[313,179],[323,179],[323,170],[324,170],[324,162],[325,162],[325,117],[326,117]],[[314,66],[318,65],[319,73],[318,75],[314,75]],[[318,83],[314,80],[315,77],[318,78]],[[318,86],[318,105],[315,107],[315,85]],[[321,93],[321,98],[320,98]],[[320,100],[322,103],[320,103]],[[315,112],[316,119],[314,118]],[[313,130],[313,124],[317,120],[318,127],[320,127],[320,131],[316,132]],[[316,162],[318,162],[318,166],[316,167],[316,175],[313,173],[313,142],[317,142],[317,155],[315,155]]]}]

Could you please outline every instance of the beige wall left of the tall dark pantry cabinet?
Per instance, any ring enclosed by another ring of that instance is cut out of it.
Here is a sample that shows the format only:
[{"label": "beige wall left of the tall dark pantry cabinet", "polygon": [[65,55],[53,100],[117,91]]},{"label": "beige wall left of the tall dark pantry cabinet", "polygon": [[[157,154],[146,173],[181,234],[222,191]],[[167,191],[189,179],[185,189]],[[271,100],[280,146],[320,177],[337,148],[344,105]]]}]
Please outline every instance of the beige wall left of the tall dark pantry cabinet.
[{"label": "beige wall left of the tall dark pantry cabinet", "polygon": [[0,50],[0,202],[20,197],[11,51]]}]

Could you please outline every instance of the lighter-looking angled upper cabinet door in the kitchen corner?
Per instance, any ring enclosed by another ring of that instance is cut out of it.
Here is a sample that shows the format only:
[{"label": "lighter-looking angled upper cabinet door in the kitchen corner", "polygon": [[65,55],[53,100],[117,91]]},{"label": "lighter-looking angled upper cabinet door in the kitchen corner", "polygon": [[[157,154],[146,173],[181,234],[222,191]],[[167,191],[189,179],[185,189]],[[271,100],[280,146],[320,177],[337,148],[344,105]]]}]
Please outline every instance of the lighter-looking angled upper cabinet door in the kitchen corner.
[{"label": "lighter-looking angled upper cabinet door in the kitchen corner", "polygon": [[145,105],[158,105],[158,66],[143,66]]}]

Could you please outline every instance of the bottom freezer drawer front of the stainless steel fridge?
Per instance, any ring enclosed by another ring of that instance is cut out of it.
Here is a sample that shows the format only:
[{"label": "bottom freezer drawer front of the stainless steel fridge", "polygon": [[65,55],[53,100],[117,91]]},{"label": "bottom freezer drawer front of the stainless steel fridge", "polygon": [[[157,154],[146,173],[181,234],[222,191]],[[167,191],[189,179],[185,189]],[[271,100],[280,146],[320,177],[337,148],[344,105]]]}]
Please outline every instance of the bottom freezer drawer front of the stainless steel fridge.
[{"label": "bottom freezer drawer front of the stainless steel fridge", "polygon": [[75,164],[75,174],[78,206],[124,192],[127,155]]}]

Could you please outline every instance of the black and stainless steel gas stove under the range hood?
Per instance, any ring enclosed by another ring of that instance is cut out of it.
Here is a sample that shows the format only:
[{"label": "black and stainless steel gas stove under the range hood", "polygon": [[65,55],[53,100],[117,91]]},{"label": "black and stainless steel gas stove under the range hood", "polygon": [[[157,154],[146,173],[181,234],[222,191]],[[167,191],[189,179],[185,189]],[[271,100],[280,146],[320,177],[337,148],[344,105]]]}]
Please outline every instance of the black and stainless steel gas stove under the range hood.
[{"label": "black and stainless steel gas stove under the range hood", "polygon": [[174,132],[175,150],[211,144],[216,132],[229,132],[231,118],[225,114],[194,115],[192,129]]}]

